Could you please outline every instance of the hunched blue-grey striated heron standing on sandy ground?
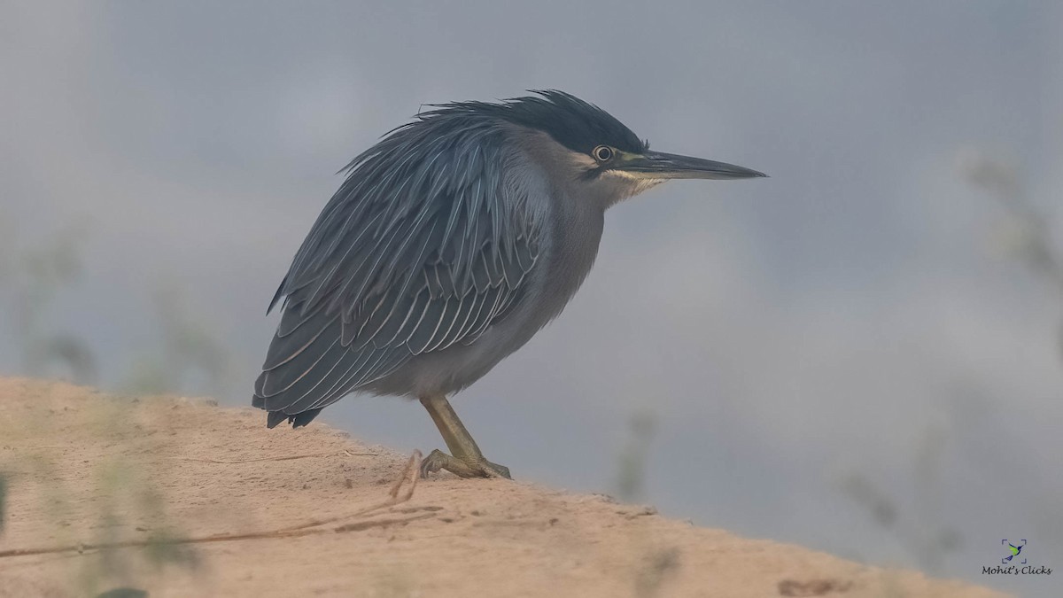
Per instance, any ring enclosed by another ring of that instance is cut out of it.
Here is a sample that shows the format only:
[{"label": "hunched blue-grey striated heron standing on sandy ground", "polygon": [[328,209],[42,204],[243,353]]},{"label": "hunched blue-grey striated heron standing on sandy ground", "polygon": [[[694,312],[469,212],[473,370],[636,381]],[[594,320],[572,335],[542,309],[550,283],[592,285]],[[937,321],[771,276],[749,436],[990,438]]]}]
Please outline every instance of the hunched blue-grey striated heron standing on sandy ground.
[{"label": "hunched blue-grey striated heron standing on sandy ground", "polygon": [[422,472],[508,478],[446,397],[561,313],[609,206],[669,179],[764,176],[651,151],[602,109],[534,93],[431,106],[347,166],[270,303],[284,298],[255,383],[267,426],[354,392],[416,398],[451,451]]}]

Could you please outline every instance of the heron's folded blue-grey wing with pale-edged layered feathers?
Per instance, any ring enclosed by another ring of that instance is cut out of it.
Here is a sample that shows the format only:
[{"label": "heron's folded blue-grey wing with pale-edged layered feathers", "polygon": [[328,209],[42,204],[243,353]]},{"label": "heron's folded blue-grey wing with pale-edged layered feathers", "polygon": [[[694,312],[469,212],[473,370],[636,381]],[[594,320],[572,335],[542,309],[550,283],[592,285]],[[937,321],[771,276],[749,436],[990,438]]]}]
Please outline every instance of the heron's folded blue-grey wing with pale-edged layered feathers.
[{"label": "heron's folded blue-grey wing with pale-edged layered feathers", "polygon": [[475,343],[526,292],[541,222],[505,180],[505,133],[440,114],[356,157],[296,254],[255,384],[271,425],[306,423],[414,355]]}]

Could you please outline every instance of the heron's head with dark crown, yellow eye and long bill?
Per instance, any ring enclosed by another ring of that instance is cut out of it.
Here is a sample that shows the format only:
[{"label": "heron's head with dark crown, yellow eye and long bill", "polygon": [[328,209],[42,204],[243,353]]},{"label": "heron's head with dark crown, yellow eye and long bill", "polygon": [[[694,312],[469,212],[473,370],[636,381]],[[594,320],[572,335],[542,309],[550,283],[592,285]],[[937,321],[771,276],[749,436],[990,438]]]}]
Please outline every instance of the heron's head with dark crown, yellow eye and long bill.
[{"label": "heron's head with dark crown, yellow eye and long bill", "polygon": [[606,204],[670,179],[750,179],[763,172],[673,153],[653,151],[648,143],[604,110],[557,90],[535,92],[496,106],[497,115],[539,133],[525,142],[540,155],[552,177],[568,178]]}]

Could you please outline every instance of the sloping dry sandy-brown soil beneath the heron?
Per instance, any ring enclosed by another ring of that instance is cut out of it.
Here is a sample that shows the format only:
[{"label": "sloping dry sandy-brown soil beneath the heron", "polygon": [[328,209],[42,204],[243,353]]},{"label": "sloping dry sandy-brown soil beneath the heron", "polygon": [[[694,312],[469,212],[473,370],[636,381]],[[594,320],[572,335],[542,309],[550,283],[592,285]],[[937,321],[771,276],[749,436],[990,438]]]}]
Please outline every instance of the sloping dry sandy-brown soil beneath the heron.
[{"label": "sloping dry sandy-brown soil beneath the heron", "polygon": [[0,597],[997,596],[521,482],[367,512],[408,455],[250,408],[24,379],[0,401]]}]

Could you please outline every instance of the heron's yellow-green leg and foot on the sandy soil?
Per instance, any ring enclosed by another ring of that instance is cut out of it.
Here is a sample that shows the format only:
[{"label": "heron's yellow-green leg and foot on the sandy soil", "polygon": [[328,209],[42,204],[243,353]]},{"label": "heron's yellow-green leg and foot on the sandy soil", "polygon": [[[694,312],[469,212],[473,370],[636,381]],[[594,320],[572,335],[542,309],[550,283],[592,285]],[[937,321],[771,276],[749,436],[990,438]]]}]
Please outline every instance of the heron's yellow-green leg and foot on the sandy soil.
[{"label": "heron's yellow-green leg and foot on the sandy soil", "polygon": [[422,398],[421,404],[428,410],[428,415],[436,422],[436,428],[439,428],[446,448],[451,449],[451,454],[439,449],[428,453],[428,456],[421,462],[422,476],[446,469],[460,478],[512,479],[509,477],[508,467],[484,459],[476,441],[472,439],[469,430],[466,430],[465,425],[458,419],[458,414],[454,413],[454,408],[446,397]]}]

